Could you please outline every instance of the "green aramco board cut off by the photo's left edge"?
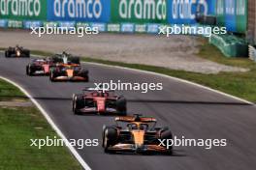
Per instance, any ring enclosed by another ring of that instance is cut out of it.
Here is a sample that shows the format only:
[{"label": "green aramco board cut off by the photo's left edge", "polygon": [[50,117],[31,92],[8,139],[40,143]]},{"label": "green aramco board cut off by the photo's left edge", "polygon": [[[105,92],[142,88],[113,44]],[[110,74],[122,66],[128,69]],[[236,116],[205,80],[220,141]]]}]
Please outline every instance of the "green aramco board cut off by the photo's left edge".
[{"label": "green aramco board cut off by the photo's left edge", "polygon": [[0,18],[46,20],[47,0],[0,0]]}]

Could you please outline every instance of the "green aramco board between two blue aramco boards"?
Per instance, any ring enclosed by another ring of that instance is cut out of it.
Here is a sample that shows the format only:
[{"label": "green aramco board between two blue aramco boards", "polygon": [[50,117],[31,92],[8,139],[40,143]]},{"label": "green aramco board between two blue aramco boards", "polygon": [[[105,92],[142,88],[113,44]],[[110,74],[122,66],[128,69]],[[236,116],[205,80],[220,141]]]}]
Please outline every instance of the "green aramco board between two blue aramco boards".
[{"label": "green aramco board between two blue aramco boards", "polygon": [[167,0],[112,0],[113,23],[166,23]]}]

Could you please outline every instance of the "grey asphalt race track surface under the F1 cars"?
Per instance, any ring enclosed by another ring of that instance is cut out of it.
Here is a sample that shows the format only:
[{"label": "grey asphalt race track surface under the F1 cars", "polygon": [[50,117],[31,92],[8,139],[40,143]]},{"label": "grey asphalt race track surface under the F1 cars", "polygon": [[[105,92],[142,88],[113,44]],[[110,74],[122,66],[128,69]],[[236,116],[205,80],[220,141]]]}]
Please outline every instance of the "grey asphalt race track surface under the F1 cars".
[{"label": "grey asphalt race track surface under the F1 cars", "polygon": [[[157,118],[179,137],[227,139],[227,147],[176,147],[174,156],[108,155],[101,146],[79,150],[92,169],[112,170],[254,170],[256,167],[256,107],[193,85],[138,71],[86,64],[90,83],[51,83],[47,76],[29,77],[30,59],[5,59],[0,55],[0,75],[16,81],[45,108],[68,138],[100,139],[110,116],[75,116],[73,93],[93,82],[162,82],[163,91],[120,92],[128,99],[128,112]],[[119,92],[118,92],[119,93]]]}]

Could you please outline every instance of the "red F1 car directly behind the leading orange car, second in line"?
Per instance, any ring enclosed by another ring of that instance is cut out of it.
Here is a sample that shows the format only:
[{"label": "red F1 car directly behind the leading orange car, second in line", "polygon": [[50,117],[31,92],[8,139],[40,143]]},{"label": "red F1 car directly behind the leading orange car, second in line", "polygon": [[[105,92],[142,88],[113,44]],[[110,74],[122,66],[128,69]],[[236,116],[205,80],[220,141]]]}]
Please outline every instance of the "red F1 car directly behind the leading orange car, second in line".
[{"label": "red F1 car directly behind the leading orange car, second in line", "polygon": [[83,94],[73,95],[75,114],[126,115],[126,99],[113,91],[85,89]]}]

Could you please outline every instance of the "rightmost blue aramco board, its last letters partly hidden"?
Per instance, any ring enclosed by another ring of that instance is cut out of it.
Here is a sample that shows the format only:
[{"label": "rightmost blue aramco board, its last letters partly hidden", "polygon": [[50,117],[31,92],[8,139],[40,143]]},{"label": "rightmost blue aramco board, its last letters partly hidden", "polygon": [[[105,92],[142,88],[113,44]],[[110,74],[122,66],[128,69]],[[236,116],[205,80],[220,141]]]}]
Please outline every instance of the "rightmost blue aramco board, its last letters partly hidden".
[{"label": "rightmost blue aramco board, its last letters partly hidden", "polygon": [[197,11],[203,14],[214,14],[214,0],[169,0],[168,22],[171,24],[196,23]]}]

